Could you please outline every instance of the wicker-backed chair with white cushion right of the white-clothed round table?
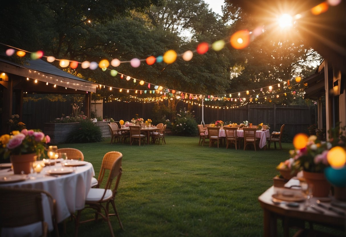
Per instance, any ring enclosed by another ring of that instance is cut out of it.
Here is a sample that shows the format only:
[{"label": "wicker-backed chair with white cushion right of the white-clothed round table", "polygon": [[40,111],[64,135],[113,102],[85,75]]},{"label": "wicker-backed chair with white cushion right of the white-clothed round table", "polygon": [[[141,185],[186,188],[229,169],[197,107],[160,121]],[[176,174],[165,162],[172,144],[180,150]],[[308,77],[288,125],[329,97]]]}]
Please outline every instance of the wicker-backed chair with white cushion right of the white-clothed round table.
[{"label": "wicker-backed chair with white cushion right of the white-clothed round table", "polygon": [[[122,168],[121,168],[121,160],[122,160],[122,154],[117,151],[110,151],[107,152],[102,160],[101,164],[101,170],[99,173],[99,184],[96,188],[90,189],[86,199],[85,199],[85,208],[92,208],[95,210],[95,218],[80,221],[81,218],[81,212],[82,210],[79,210],[75,219],[75,236],[78,236],[78,228],[79,224],[92,221],[92,220],[98,220],[98,216],[100,215],[105,221],[108,222],[108,227],[111,233],[111,236],[114,237],[113,233],[113,227],[110,222],[110,216],[117,216],[120,228],[123,230],[121,220],[119,218],[119,214],[117,211],[117,208],[115,206],[115,196],[118,191],[119,181],[122,174]],[[106,181],[106,185],[104,188],[100,188],[100,184],[103,181],[104,175],[106,172],[109,172],[108,179]],[[114,181],[114,182],[113,182]],[[113,189],[111,187],[114,186]],[[109,213],[109,206],[113,207],[114,213]],[[83,209],[83,210],[84,210]],[[104,214],[102,213],[104,212]]]}]

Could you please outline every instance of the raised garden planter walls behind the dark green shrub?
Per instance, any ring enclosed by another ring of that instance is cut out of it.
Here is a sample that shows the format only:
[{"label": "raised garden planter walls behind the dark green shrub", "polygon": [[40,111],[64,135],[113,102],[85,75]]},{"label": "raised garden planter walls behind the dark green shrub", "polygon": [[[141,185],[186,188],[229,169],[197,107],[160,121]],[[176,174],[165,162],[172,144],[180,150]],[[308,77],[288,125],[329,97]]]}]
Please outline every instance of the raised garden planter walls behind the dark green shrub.
[{"label": "raised garden planter walls behind the dark green shrub", "polygon": [[[109,127],[110,122],[96,122],[95,126],[99,126],[104,138],[109,138]],[[67,135],[78,127],[79,123],[45,123],[44,134],[51,137],[52,144],[64,143]]]}]

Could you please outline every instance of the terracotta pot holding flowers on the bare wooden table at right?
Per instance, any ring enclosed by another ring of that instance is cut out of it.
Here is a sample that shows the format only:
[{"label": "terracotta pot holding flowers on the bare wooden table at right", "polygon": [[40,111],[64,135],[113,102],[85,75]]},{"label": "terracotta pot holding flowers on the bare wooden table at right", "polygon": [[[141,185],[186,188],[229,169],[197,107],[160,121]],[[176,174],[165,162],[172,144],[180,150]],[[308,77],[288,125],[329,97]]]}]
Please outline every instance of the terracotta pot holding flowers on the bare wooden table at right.
[{"label": "terracotta pot holding flowers on the bare wooden table at right", "polygon": [[328,197],[330,183],[327,181],[324,173],[314,173],[303,170],[303,176],[309,185],[312,184],[312,196]]}]

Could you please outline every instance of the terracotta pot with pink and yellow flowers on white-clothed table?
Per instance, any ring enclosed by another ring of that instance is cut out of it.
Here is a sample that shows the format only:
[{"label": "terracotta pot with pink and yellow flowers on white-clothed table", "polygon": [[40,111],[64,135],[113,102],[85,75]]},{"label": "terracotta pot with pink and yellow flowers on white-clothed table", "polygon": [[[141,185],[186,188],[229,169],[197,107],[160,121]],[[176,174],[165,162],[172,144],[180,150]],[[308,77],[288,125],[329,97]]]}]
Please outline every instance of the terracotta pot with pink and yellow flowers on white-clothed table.
[{"label": "terracotta pot with pink and yellow flowers on white-clothed table", "polygon": [[41,155],[45,157],[44,151],[50,141],[51,138],[40,130],[12,131],[0,137],[0,154],[5,159],[10,157],[15,173],[30,173],[30,162]]}]

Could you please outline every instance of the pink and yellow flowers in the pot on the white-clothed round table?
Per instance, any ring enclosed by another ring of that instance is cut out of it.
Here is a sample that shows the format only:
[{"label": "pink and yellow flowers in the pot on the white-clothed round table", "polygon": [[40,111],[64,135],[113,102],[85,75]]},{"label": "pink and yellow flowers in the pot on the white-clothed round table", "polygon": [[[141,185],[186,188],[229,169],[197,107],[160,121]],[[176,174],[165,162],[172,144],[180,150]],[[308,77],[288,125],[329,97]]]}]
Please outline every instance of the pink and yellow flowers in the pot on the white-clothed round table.
[{"label": "pink and yellow flowers in the pot on the white-clothed round table", "polygon": [[22,155],[36,153],[44,155],[46,144],[51,141],[48,135],[40,130],[23,129],[21,132],[12,131],[0,137],[0,154],[6,159],[10,155]]}]

